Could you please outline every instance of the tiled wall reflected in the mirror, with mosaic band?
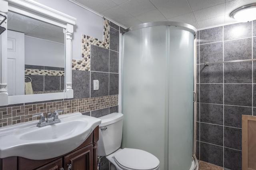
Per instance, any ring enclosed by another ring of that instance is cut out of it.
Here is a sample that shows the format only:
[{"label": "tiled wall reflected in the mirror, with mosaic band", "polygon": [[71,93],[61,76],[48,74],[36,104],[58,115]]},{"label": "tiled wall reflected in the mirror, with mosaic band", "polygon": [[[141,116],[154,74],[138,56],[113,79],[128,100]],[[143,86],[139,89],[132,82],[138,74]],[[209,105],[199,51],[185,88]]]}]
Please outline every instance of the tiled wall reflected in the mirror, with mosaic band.
[{"label": "tiled wall reflected in the mirror, with mosaic band", "polygon": [[[30,77],[34,94],[62,92],[65,88],[64,68],[25,65],[25,75]],[[25,79],[25,82],[30,81]]]}]

